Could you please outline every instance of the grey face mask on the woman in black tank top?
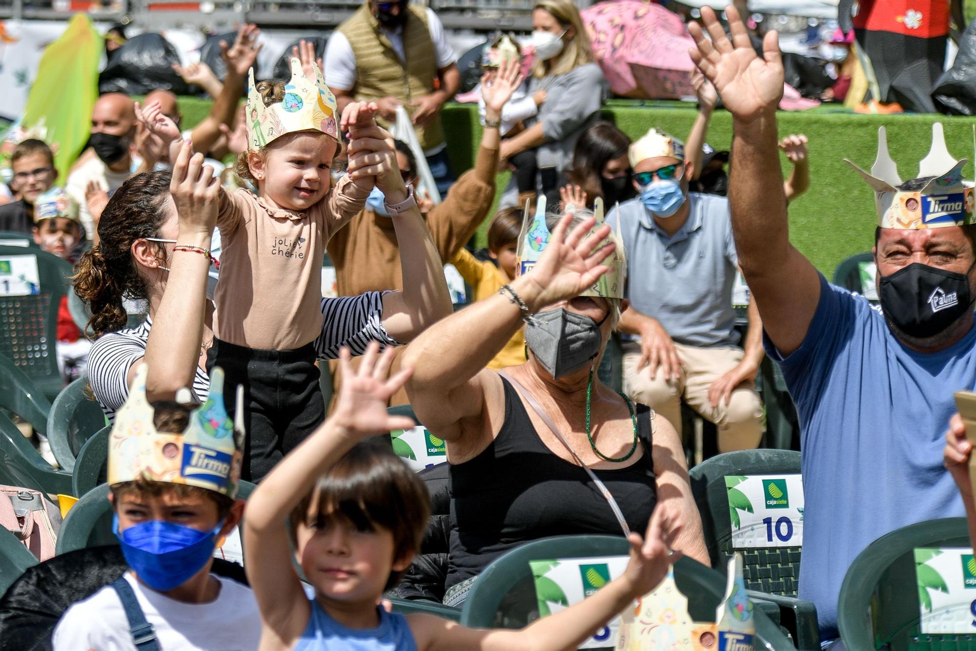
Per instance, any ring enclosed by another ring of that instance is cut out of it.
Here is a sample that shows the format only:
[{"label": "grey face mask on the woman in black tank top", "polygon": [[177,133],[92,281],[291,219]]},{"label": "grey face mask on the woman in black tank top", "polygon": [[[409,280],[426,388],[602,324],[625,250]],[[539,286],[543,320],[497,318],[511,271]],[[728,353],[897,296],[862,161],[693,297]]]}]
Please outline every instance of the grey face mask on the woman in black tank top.
[{"label": "grey face mask on the woman in black tank top", "polygon": [[534,314],[525,328],[525,343],[553,379],[578,371],[603,347],[600,325],[589,316],[563,307]]}]

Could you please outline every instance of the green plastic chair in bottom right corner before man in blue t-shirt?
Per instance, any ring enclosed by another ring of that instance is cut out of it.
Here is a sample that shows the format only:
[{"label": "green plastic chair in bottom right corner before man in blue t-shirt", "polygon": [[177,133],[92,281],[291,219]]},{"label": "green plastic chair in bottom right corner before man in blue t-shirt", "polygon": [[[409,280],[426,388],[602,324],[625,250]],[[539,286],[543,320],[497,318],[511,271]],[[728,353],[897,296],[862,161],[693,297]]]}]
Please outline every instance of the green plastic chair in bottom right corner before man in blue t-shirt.
[{"label": "green plastic chair in bottom right corner before man in blue t-shirt", "polygon": [[917,522],[881,536],[847,568],[837,627],[848,649],[972,649],[976,634],[919,632],[915,549],[971,549],[964,517]]}]

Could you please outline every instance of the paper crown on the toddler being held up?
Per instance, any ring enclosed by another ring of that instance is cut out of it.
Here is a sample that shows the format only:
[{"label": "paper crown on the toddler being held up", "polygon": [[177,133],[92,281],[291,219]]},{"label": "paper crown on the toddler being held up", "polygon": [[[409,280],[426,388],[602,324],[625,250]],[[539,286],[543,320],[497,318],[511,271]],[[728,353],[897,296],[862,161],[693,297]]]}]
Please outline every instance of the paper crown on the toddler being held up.
[{"label": "paper crown on the toddler being held up", "polygon": [[254,82],[254,68],[248,73],[247,142],[257,151],[285,134],[299,131],[320,131],[339,142],[339,105],[336,96],[325,85],[322,71],[315,67],[315,78],[308,79],[302,64],[291,59],[292,78],[285,84],[281,102],[264,105]]}]

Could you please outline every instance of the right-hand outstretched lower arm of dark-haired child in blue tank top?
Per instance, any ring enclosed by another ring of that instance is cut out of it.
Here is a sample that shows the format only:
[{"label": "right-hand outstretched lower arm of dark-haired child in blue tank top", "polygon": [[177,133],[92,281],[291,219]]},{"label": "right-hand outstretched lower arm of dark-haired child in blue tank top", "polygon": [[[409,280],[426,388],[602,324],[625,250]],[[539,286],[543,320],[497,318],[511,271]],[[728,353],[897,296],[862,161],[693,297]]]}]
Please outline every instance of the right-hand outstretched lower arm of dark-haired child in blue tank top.
[{"label": "right-hand outstretched lower arm of dark-haired child in blue tank top", "polygon": [[465,627],[430,615],[412,615],[417,648],[421,651],[478,649],[479,651],[545,651],[575,649],[607,622],[630,608],[635,599],[654,590],[680,557],[669,549],[677,533],[662,506],[654,509],[644,539],[631,533],[630,563],[624,574],[571,608],[533,622],[521,631],[486,631]]}]

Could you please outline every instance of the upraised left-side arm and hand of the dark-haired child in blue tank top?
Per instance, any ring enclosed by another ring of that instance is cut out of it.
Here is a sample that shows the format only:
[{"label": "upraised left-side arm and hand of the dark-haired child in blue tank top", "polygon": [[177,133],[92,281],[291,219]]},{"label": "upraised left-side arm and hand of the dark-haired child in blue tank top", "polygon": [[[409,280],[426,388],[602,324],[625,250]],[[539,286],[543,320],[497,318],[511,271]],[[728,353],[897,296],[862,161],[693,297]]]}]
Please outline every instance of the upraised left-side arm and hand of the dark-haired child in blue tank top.
[{"label": "upraised left-side arm and hand of the dark-haired child in blue tank top", "polygon": [[[357,371],[349,351],[340,353],[343,383],[333,414],[268,473],[248,500],[244,518],[244,562],[261,609],[262,642],[291,648],[302,636],[310,606],[292,567],[287,518],[311,492],[319,477],[356,443],[391,429],[413,427],[409,418],[390,416],[386,401],[411,371],[385,380],[394,348],[379,354],[371,344]],[[264,646],[263,646],[264,648]]]}]

